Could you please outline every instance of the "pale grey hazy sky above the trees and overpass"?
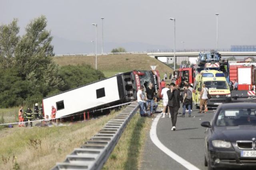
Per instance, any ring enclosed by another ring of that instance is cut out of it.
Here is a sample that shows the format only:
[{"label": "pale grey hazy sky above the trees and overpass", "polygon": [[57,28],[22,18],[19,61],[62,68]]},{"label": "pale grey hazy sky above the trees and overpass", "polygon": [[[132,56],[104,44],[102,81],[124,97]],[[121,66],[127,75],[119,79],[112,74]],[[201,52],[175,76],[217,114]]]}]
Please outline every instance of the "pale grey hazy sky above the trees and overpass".
[{"label": "pale grey hazy sky above the trees and overpass", "polygon": [[219,48],[256,45],[256,0],[0,0],[0,24],[18,18],[20,32],[41,14],[53,36],[90,42],[101,19],[106,42],[140,42],[173,48],[216,47],[216,16],[219,13]]}]

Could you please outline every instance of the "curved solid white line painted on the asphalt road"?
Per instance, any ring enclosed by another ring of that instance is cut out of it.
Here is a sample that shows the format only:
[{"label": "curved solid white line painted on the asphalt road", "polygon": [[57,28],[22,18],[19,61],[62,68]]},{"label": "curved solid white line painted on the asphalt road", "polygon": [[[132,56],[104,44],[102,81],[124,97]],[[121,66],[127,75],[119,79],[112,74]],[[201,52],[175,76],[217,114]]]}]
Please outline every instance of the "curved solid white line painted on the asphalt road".
[{"label": "curved solid white line painted on the asphalt road", "polygon": [[[168,149],[166,146],[164,146],[161,141],[158,139],[156,135],[156,126],[160,119],[161,115],[157,115],[156,118],[153,120],[153,123],[151,125],[150,129],[150,138],[151,141],[158,147],[160,150],[162,150],[164,153],[166,153],[168,156],[170,156],[172,159],[176,160],[176,162],[180,163],[182,166],[187,168],[188,170],[200,170],[190,162],[184,160],[182,157],[178,156],[176,153],[172,152],[172,150]],[[171,130],[171,129],[170,129]]]}]

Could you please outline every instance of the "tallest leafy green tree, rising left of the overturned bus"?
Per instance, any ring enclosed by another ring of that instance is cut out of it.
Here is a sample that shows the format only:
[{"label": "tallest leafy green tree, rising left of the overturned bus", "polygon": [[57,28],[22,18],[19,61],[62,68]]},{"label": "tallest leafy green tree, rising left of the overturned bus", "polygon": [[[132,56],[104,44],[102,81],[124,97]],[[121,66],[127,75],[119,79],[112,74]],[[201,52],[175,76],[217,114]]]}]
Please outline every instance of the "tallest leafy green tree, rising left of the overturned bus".
[{"label": "tallest leafy green tree, rising left of the overturned bus", "polygon": [[46,30],[47,20],[40,16],[26,27],[26,33],[15,49],[15,69],[22,80],[28,80],[32,90],[40,90],[45,96],[51,90],[63,85],[54,63],[52,36]]}]

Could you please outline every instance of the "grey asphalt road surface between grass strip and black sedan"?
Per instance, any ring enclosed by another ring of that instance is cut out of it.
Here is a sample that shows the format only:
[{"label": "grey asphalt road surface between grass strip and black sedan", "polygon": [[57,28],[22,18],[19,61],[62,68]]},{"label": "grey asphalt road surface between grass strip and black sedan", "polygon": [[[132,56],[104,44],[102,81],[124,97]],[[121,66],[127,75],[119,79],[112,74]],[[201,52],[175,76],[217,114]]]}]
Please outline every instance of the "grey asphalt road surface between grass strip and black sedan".
[{"label": "grey asphalt road surface between grass strip and black sedan", "polygon": [[[206,170],[204,166],[204,132],[206,128],[201,127],[203,121],[210,121],[215,110],[209,110],[208,113],[198,113],[195,107],[192,111],[192,117],[178,117],[176,131],[171,131],[171,119],[168,116],[162,118],[162,115],[156,125],[156,134],[159,141],[190,164],[200,170]],[[180,108],[179,112],[182,113]],[[180,116],[181,114],[178,114]],[[155,115],[157,116],[157,115]],[[156,120],[156,119],[155,119]],[[155,121],[154,120],[154,121]],[[151,129],[152,130],[152,129]],[[174,158],[175,159],[175,158]],[[178,163],[152,142],[150,132],[142,153],[141,170],[186,170],[182,164]],[[193,169],[193,168],[192,168]]]}]

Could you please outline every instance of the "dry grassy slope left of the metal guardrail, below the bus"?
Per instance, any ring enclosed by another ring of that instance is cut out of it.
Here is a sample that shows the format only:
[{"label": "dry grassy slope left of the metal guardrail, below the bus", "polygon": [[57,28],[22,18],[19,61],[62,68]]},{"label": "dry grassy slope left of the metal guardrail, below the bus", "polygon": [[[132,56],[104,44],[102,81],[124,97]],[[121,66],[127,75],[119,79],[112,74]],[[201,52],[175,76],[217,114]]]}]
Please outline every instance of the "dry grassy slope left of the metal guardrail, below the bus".
[{"label": "dry grassy slope left of the metal guardrail, below the bus", "polygon": [[118,112],[68,126],[4,128],[0,131],[0,169],[50,169],[56,162],[64,161],[67,154],[90,139]]}]

